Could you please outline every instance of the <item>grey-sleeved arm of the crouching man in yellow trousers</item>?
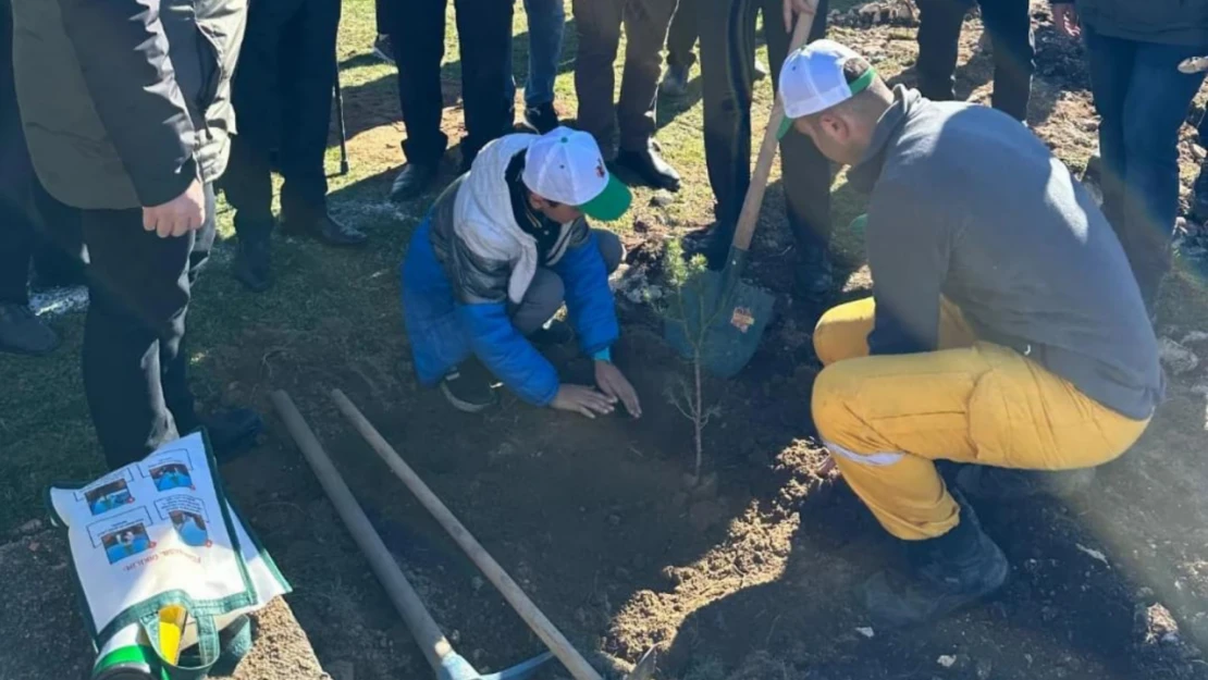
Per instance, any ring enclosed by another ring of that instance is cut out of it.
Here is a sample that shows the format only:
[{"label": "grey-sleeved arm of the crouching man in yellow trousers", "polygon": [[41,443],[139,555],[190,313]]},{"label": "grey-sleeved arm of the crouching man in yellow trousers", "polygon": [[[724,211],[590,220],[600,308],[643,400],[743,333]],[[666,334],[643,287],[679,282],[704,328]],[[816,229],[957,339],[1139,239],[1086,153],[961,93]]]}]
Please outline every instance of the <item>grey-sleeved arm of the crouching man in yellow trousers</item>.
[{"label": "grey-sleeved arm of the crouching man in yellow trousers", "polygon": [[947,227],[918,197],[918,191],[907,187],[878,186],[869,205],[865,238],[876,301],[870,354],[939,348],[940,293],[948,271]]}]

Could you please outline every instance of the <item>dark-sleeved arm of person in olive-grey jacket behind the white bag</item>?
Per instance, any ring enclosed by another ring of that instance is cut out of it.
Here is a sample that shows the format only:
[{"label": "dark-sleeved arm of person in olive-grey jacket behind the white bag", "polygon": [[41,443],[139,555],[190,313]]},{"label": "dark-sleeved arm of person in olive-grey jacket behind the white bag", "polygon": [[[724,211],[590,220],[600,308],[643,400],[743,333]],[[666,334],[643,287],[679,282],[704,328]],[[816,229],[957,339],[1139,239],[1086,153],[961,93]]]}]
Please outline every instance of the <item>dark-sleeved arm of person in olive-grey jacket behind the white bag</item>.
[{"label": "dark-sleeved arm of person in olive-grey jacket behind the white bag", "polygon": [[194,130],[168,57],[159,0],[57,1],[139,202],[156,207],[180,197],[197,180]]}]

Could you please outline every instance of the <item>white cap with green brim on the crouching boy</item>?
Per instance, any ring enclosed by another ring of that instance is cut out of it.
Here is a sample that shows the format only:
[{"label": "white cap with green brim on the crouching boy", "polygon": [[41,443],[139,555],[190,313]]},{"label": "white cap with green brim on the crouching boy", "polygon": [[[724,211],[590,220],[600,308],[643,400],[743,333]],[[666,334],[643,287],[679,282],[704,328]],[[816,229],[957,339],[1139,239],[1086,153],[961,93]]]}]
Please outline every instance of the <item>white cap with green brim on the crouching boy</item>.
[{"label": "white cap with green brim on the crouching boy", "polygon": [[605,222],[625,215],[633,200],[629,187],[608,172],[596,139],[564,127],[529,145],[521,179],[541,198],[574,205]]}]

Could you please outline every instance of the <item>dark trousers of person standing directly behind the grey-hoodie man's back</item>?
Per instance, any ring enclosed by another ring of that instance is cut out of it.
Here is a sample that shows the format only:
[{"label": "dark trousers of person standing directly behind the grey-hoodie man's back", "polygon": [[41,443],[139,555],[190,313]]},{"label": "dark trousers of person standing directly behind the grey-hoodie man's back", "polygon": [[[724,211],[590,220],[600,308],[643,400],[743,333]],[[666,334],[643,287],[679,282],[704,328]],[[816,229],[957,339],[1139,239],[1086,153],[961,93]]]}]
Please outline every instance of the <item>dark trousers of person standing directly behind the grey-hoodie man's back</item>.
[{"label": "dark trousers of person standing directly behind the grey-hoodie man's back", "polygon": [[[1028,0],[976,0],[994,50],[995,109],[1020,121],[1028,117],[1035,45]],[[974,0],[917,0],[918,89],[934,101],[947,101],[957,69],[957,43]]]}]

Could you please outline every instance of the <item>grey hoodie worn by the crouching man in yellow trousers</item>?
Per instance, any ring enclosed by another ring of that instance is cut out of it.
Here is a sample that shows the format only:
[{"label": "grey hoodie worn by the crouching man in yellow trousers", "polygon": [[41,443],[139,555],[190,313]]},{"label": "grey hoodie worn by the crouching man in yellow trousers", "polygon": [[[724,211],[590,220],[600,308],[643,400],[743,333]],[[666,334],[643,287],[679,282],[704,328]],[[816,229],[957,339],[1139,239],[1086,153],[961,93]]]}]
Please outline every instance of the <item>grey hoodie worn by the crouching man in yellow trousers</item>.
[{"label": "grey hoodie worn by the crouching man in yellow trousers", "polygon": [[898,87],[865,158],[877,303],[873,354],[936,349],[940,296],[1010,347],[1129,418],[1162,399],[1157,341],[1110,225],[1018,121]]}]

